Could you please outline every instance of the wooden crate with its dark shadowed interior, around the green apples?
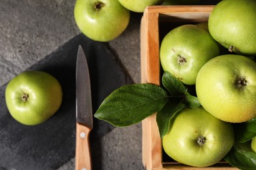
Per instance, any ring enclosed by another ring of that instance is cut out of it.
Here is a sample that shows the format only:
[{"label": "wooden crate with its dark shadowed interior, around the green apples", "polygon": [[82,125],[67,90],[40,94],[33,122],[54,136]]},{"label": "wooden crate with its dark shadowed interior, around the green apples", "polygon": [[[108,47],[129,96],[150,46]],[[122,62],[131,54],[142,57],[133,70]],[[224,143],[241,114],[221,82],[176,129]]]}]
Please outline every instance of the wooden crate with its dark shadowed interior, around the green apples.
[{"label": "wooden crate with its dark shadowed interior, around the green apples", "polygon": [[[171,29],[184,24],[207,22],[212,5],[151,6],[144,10],[140,25],[141,82],[160,85],[160,44]],[[189,167],[172,160],[162,148],[156,114],[142,121],[142,161],[146,169],[236,169],[220,161],[210,167]]]}]

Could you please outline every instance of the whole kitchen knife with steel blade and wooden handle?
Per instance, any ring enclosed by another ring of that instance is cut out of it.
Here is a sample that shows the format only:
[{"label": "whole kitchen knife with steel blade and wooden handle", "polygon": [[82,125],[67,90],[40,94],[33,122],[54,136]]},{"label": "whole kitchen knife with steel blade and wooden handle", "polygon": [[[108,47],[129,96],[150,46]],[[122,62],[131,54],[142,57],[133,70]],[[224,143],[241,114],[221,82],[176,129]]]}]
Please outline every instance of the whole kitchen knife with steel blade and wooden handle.
[{"label": "whole kitchen knife with steel blade and wooden handle", "polygon": [[91,82],[87,59],[79,45],[76,61],[76,142],[75,169],[91,170],[91,148],[89,133],[93,129]]}]

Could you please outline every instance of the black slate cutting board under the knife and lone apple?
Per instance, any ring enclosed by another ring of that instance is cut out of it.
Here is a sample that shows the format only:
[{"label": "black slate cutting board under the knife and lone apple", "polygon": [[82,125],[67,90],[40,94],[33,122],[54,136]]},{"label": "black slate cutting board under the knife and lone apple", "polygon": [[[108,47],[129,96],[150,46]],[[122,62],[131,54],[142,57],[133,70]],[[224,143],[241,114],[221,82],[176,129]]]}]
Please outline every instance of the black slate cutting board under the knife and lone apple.
[{"label": "black slate cutting board under the knife and lone apple", "polygon": [[[62,106],[52,118],[37,126],[25,126],[16,122],[5,104],[6,85],[1,86],[0,169],[57,169],[74,158],[75,61],[79,44],[83,47],[89,65],[94,112],[113,90],[133,83],[106,43],[77,35],[28,69],[46,71],[62,85]],[[113,128],[94,118],[91,148],[95,169],[100,169],[100,137]]]}]

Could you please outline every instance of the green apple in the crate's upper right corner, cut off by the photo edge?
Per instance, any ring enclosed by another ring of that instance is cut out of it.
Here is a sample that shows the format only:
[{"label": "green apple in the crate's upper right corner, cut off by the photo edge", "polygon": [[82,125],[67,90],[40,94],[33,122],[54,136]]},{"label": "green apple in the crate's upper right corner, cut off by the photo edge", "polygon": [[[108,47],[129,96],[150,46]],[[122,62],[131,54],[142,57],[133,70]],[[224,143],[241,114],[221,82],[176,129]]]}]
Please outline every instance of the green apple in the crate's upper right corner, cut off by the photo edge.
[{"label": "green apple in the crate's upper right corner, cut off by the photo edge", "polygon": [[224,0],[209,16],[209,32],[230,52],[256,54],[256,1]]}]

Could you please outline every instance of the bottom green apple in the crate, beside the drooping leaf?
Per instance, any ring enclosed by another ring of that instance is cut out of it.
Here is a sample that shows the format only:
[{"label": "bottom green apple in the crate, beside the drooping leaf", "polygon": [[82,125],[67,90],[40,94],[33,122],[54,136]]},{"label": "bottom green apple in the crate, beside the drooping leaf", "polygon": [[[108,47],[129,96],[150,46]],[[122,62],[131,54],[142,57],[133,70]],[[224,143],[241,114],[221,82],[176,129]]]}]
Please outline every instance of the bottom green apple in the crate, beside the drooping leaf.
[{"label": "bottom green apple in the crate, beside the drooping leaf", "polygon": [[221,161],[234,144],[232,124],[215,118],[203,107],[181,110],[169,128],[163,149],[173,160],[194,167]]}]

